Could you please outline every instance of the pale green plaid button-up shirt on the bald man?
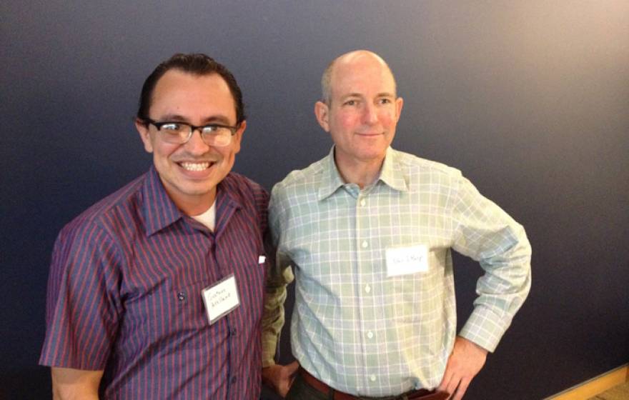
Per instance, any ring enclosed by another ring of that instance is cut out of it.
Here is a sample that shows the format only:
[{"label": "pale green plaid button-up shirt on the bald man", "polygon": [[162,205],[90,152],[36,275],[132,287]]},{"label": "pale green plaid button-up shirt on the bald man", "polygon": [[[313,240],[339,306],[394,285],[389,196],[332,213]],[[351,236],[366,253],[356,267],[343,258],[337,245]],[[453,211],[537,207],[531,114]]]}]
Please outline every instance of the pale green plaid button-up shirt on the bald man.
[{"label": "pale green plaid button-up shirt on the bald man", "polygon": [[433,388],[457,327],[450,249],[485,270],[460,335],[493,351],[530,289],[525,231],[456,169],[387,149],[379,179],[361,190],[333,154],[272,191],[263,364],[273,363],[292,265],[291,343],[304,369],[355,395]]}]

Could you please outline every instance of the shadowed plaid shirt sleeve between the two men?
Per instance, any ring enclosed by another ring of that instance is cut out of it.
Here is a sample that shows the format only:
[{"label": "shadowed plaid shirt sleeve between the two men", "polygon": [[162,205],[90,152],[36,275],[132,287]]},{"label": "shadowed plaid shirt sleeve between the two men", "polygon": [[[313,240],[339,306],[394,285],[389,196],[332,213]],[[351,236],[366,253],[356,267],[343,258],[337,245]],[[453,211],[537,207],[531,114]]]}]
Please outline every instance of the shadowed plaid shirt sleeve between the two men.
[{"label": "shadowed plaid shirt sleeve between the two men", "polygon": [[266,293],[264,296],[264,311],[262,313],[262,367],[275,364],[275,354],[279,336],[284,326],[284,301],[286,301],[286,287],[294,279],[290,257],[279,250],[282,232],[281,208],[279,189],[273,189],[269,201],[269,230],[266,247],[267,255],[271,257],[269,273],[267,274]]}]

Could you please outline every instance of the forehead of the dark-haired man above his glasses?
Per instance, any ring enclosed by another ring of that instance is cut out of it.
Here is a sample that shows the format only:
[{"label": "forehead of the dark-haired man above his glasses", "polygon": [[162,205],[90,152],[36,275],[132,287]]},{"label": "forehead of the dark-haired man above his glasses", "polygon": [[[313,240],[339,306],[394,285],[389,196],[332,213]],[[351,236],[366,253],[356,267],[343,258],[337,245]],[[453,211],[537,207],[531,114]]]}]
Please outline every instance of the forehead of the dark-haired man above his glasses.
[{"label": "forehead of the dark-haired man above his glasses", "polygon": [[219,74],[197,75],[171,69],[157,81],[149,113],[154,118],[179,115],[189,119],[220,114],[235,121],[236,104]]}]

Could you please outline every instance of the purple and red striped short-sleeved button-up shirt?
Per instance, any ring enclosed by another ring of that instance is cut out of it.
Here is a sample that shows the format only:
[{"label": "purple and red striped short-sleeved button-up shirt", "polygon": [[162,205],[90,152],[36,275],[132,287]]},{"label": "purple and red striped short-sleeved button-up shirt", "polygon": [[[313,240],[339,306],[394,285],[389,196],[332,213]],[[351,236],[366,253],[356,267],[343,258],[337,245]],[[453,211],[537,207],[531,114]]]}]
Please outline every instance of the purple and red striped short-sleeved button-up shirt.
[{"label": "purple and red striped short-sleeved button-up shirt", "polygon": [[[40,364],[104,369],[104,399],[258,399],[268,194],[217,186],[214,232],[152,168],[59,234]],[[234,274],[240,306],[210,325],[202,289]]]}]

